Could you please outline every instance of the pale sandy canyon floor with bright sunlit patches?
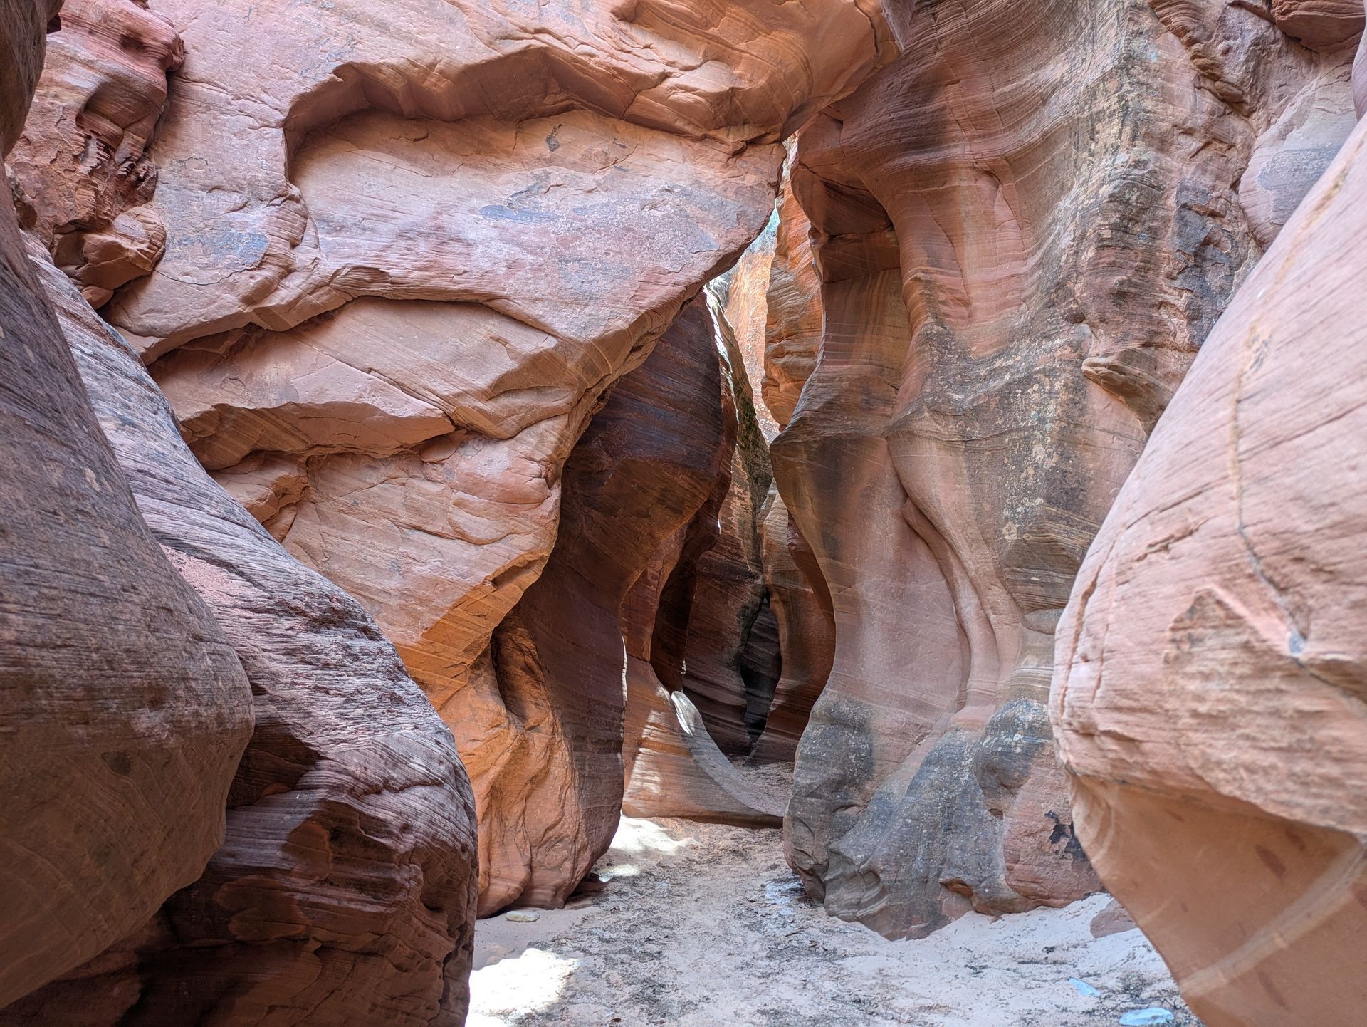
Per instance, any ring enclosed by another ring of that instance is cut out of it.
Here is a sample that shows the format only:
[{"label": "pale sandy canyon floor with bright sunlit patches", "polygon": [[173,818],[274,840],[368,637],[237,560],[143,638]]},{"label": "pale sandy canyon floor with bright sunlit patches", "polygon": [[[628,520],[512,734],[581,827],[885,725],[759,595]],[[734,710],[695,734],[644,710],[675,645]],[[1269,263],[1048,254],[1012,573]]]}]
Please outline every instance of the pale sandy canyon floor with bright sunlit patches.
[{"label": "pale sandy canyon floor with bright sunlit patches", "polygon": [[480,922],[470,1027],[1199,1024],[1137,930],[1092,938],[1105,896],[890,942],[808,901],[776,830],[623,818],[597,872],[570,908]]}]

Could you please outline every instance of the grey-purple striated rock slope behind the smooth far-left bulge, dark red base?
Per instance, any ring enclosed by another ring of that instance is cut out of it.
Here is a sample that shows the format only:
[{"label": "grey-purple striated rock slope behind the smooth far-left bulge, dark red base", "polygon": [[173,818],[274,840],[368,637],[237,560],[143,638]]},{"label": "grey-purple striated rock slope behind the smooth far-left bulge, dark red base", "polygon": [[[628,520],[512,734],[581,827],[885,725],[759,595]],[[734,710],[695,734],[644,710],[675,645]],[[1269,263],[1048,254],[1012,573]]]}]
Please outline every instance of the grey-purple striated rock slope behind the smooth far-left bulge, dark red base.
[{"label": "grey-purple striated rock slope behind the smooth far-left bulge, dark red base", "polygon": [[361,607],[195,462],[133,350],[40,272],[139,509],[246,669],[256,730],[204,875],[0,1023],[463,1022],[476,840],[451,733]]}]

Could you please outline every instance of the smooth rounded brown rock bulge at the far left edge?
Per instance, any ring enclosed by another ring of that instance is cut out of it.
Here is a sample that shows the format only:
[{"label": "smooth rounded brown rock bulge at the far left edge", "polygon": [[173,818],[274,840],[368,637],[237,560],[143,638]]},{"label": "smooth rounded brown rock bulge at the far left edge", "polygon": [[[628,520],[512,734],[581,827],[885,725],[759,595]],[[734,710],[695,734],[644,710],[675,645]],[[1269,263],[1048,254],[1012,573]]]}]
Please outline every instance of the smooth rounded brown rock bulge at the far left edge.
[{"label": "smooth rounded brown rock bulge at the far left edge", "polygon": [[[0,7],[0,142],[55,4]],[[0,1005],[204,870],[252,726],[236,655],[100,434],[0,191]]]}]

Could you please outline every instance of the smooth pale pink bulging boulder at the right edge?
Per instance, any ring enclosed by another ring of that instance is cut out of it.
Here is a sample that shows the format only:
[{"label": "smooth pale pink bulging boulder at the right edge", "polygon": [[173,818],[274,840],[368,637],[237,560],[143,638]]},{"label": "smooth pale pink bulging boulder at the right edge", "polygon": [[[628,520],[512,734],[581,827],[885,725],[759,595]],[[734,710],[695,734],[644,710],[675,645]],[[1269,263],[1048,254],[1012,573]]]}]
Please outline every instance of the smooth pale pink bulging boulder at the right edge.
[{"label": "smooth pale pink bulging boulder at the right edge", "polygon": [[1059,626],[1079,836],[1211,1027],[1367,1004],[1364,239],[1359,127],[1203,346]]}]

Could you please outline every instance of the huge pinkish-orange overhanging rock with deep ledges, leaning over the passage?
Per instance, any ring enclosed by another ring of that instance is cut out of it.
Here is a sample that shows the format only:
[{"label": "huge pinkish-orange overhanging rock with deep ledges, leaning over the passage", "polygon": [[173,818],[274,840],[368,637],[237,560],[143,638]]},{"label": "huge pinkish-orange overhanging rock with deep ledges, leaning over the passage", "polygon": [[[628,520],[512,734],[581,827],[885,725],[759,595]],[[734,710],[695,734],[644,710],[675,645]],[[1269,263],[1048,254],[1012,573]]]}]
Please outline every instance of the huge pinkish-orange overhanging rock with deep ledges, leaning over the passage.
[{"label": "huge pinkish-orange overhanging rock with deep ledges, leaning over the passage", "polygon": [[[593,408],[763,227],[779,138],[886,49],[876,5],[157,10],[186,53],[150,150],[167,253],[109,317],[216,479],[395,641],[488,803],[485,879],[521,882],[552,838],[481,775],[571,782],[518,741],[491,637]],[[560,827],[532,894],[588,866]]]}]

